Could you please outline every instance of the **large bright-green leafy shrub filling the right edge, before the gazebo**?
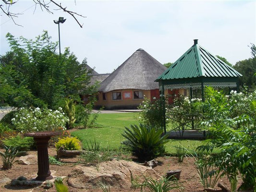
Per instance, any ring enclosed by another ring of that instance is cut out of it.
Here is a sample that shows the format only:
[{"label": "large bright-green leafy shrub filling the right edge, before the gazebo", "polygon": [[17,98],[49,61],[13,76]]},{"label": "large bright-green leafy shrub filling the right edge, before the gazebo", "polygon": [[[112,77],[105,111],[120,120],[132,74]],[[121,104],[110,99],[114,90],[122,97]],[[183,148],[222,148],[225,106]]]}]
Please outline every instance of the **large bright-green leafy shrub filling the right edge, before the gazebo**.
[{"label": "large bright-green leafy shrub filling the right edge, before the gazebo", "polygon": [[[236,94],[233,92],[232,94]],[[255,93],[247,94],[254,95]],[[243,95],[239,93],[239,95]],[[241,96],[242,99],[243,96]],[[256,100],[254,96],[246,99],[249,103],[248,111],[238,113],[233,118],[234,108],[232,102],[237,96],[231,96],[230,100],[221,92],[212,88],[206,88],[206,101],[201,105],[206,115],[202,122],[211,133],[206,144],[199,146],[201,150],[212,152],[213,147],[219,148],[218,154],[209,155],[207,163],[219,168],[230,181],[236,180],[238,173],[242,175],[241,188],[254,189],[256,183]],[[236,101],[240,105],[240,101]],[[243,105],[242,105],[243,106]],[[237,111],[237,110],[235,110]]]}]

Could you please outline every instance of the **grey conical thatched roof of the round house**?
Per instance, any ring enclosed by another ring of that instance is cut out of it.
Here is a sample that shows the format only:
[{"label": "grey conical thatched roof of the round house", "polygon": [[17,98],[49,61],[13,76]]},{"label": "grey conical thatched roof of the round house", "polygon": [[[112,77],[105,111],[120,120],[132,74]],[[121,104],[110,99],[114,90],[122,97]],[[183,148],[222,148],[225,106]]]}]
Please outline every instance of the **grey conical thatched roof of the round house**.
[{"label": "grey conical thatched roof of the round house", "polygon": [[114,72],[100,83],[99,91],[110,92],[119,89],[158,89],[155,79],[167,68],[139,48]]}]

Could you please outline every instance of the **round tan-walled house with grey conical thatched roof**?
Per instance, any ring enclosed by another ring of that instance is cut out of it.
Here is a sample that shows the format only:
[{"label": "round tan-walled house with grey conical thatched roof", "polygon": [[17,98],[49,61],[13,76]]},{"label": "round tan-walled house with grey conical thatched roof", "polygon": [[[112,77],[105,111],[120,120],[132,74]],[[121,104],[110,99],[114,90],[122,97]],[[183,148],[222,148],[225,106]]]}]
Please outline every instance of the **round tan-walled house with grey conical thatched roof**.
[{"label": "round tan-walled house with grey conical thatched roof", "polygon": [[96,108],[134,109],[143,98],[159,98],[155,79],[167,68],[139,48],[99,84]]}]

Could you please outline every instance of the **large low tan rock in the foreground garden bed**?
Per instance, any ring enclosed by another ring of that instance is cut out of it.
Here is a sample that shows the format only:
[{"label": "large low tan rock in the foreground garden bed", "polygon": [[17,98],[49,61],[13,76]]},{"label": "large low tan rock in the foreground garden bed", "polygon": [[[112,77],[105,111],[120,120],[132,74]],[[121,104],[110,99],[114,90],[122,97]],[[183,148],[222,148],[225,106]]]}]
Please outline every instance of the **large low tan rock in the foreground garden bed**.
[{"label": "large low tan rock in the foreground garden bed", "polygon": [[117,188],[131,187],[132,178],[142,183],[145,178],[160,178],[160,175],[152,169],[139,165],[132,161],[112,160],[102,162],[97,167],[76,166],[68,175],[68,184],[74,188],[91,189],[99,187],[98,183],[103,182]]}]

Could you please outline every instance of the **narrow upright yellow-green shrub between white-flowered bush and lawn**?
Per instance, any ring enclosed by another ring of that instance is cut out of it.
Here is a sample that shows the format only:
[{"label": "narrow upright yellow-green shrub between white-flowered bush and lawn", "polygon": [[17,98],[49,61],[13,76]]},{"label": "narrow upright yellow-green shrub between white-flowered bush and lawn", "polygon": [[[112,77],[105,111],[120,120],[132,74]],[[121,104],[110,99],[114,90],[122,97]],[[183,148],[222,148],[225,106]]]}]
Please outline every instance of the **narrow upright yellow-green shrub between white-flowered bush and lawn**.
[{"label": "narrow upright yellow-green shrub between white-flowered bush and lawn", "polygon": [[65,107],[63,108],[66,116],[68,117],[69,121],[67,123],[67,128],[72,129],[74,127],[75,122],[75,104],[73,99],[66,99],[65,100]]}]

